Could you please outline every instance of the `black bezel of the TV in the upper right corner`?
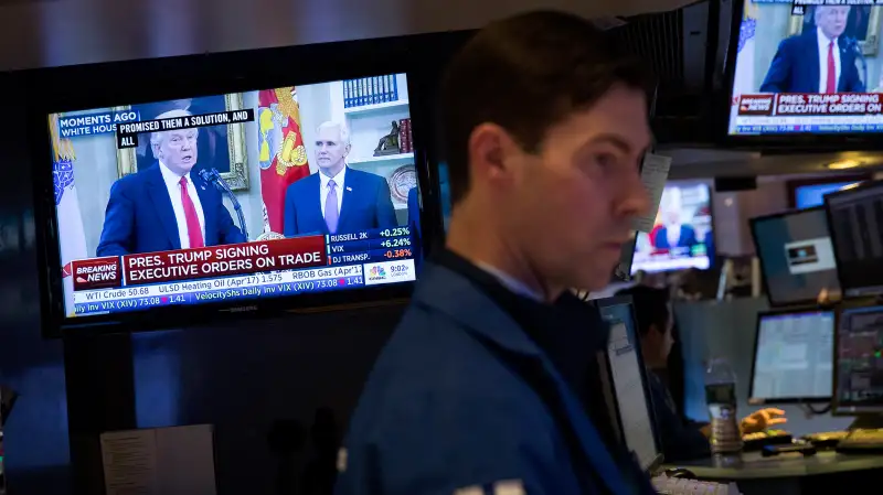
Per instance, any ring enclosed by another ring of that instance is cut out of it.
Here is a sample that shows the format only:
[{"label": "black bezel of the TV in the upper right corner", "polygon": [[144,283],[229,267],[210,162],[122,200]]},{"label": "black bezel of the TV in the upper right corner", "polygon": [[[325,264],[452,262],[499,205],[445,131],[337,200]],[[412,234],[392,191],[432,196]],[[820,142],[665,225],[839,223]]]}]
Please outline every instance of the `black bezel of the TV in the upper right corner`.
[{"label": "black bezel of the TV in the upper right corner", "polygon": [[[883,132],[874,133],[777,133],[777,134],[731,134],[730,111],[733,100],[733,84],[736,76],[736,56],[738,55],[740,28],[745,12],[746,0],[733,1],[733,17],[730,26],[730,40],[724,64],[723,90],[716,105],[719,112],[714,115],[720,129],[717,146],[723,148],[764,150],[770,152],[818,152],[818,151],[860,151],[877,150],[883,142]],[[770,3],[772,4],[772,3]]]}]

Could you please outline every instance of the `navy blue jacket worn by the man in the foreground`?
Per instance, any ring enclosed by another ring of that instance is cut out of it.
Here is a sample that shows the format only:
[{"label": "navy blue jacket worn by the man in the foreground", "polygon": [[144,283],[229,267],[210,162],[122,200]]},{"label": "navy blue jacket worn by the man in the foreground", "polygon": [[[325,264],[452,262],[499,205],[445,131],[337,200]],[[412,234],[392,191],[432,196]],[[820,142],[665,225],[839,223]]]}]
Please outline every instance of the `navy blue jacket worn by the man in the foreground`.
[{"label": "navy blue jacket worn by the man in the foreground", "polygon": [[[551,384],[586,470],[575,469],[560,423],[524,373]],[[337,495],[490,494],[504,481],[531,495],[653,493],[634,464],[614,461],[518,324],[468,279],[435,263],[424,268],[374,366],[340,461]]]}]

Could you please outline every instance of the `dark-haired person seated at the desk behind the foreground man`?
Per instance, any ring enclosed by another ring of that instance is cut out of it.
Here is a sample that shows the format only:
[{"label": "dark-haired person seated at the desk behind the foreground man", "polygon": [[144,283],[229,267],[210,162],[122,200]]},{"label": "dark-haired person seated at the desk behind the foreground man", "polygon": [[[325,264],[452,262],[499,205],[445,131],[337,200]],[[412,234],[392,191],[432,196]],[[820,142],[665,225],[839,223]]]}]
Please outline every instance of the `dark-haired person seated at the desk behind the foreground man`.
[{"label": "dark-haired person seated at the desk behind the foreground man", "polygon": [[[684,421],[671,394],[657,375],[657,370],[667,365],[673,344],[671,329],[674,319],[669,305],[668,290],[635,286],[617,292],[617,295],[631,297],[635,314],[638,315],[641,355],[648,370],[653,416],[662,441],[662,455],[667,462],[689,461],[711,455],[709,427]],[[760,409],[742,420],[742,434],[764,431],[786,421],[785,411],[781,409]]]}]

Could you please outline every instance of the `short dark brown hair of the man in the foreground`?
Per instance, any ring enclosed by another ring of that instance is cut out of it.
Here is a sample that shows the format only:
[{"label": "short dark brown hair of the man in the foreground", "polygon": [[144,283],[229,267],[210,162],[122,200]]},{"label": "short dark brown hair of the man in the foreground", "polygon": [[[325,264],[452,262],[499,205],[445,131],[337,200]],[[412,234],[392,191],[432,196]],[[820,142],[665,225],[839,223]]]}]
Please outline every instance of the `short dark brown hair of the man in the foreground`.
[{"label": "short dark brown hair of the man in the foreground", "polygon": [[649,92],[645,65],[589,21],[530,12],[493,22],[454,56],[442,84],[442,114],[453,203],[469,190],[472,130],[493,122],[526,152],[550,127],[592,107],[614,85]]}]

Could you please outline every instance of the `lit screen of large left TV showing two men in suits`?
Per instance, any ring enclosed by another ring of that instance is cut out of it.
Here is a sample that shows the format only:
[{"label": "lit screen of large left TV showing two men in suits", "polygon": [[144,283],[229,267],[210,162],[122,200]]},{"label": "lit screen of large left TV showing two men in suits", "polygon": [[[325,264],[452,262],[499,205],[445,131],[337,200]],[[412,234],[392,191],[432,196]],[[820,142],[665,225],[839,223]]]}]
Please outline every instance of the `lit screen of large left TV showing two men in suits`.
[{"label": "lit screen of large left TV showing two men in suits", "polygon": [[416,278],[405,74],[47,117],[67,318]]}]

